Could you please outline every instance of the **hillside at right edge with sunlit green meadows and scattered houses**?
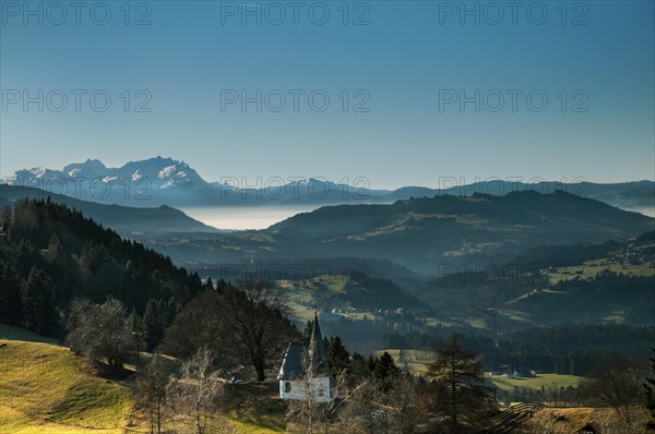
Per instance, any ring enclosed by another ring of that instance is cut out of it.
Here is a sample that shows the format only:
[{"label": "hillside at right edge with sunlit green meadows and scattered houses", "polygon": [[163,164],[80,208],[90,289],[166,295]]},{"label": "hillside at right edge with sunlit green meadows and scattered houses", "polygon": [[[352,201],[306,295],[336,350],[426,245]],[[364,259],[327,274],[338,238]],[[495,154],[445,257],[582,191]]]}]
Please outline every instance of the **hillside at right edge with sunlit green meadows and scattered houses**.
[{"label": "hillside at right edge with sunlit green meadows and scattered houses", "polygon": [[507,264],[444,275],[412,292],[452,321],[477,328],[652,324],[654,236],[539,246]]}]

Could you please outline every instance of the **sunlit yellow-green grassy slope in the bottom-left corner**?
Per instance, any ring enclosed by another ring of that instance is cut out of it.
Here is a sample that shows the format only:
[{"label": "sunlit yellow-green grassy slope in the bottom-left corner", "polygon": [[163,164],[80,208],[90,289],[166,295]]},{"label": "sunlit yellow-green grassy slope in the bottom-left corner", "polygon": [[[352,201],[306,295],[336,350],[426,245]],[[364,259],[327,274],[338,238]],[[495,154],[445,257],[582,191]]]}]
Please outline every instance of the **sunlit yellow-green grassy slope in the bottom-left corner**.
[{"label": "sunlit yellow-green grassy slope in the bottom-left corner", "polygon": [[88,373],[64,347],[0,340],[0,432],[121,433],[129,388]]}]

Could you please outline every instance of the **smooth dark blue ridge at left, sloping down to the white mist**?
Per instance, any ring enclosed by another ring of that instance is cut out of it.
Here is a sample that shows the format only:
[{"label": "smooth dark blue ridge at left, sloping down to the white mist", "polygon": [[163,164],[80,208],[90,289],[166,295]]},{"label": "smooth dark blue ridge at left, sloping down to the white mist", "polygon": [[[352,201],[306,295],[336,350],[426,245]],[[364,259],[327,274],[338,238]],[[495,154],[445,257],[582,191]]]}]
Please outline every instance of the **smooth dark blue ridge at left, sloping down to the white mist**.
[{"label": "smooth dark blue ridge at left, sloping down to the white mist", "polygon": [[116,230],[123,237],[171,232],[218,232],[187,216],[179,209],[162,205],[156,208],[132,208],[81,201],[61,194],[48,193],[31,186],[0,184],[0,206],[20,200],[50,200],[81,212],[105,228]]}]

